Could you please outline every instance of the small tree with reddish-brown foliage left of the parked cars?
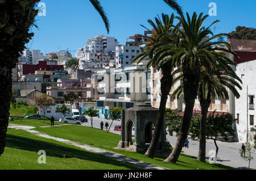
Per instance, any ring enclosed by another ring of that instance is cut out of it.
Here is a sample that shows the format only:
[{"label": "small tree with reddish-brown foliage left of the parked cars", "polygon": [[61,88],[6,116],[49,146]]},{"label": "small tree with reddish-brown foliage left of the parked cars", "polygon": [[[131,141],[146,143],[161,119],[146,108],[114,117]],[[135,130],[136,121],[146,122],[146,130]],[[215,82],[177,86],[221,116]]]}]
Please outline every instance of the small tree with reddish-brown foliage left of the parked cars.
[{"label": "small tree with reddish-brown foliage left of the parked cars", "polygon": [[34,98],[36,106],[38,106],[39,110],[44,112],[44,121],[46,120],[46,111],[50,108],[54,102],[52,99],[49,99],[46,94],[36,96]]}]

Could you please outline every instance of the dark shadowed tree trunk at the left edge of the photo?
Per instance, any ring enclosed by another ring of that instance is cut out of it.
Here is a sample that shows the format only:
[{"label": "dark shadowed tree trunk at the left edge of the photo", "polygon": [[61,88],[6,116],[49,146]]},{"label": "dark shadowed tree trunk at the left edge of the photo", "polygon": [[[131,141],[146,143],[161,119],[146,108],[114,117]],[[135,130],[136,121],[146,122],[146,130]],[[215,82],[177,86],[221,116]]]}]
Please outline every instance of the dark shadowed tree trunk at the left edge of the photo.
[{"label": "dark shadowed tree trunk at the left edge of the photo", "polygon": [[[2,60],[5,62],[4,60]],[[11,101],[11,89],[12,89],[12,79],[11,79],[11,68],[7,66],[0,67],[0,79],[1,79],[1,89],[0,89],[0,156],[5,150],[6,132],[9,124],[9,111],[10,111],[10,101]]]}]

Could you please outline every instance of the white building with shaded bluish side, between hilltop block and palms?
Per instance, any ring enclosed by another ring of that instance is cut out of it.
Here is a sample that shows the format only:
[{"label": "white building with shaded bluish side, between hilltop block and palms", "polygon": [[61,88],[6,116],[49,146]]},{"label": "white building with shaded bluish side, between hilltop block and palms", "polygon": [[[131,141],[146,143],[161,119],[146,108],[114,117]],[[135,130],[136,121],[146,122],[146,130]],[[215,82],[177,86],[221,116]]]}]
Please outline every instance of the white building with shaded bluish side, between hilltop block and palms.
[{"label": "white building with shaded bluish side, between hilltop block and palms", "polygon": [[115,47],[115,68],[130,66],[131,58],[141,53],[141,47],[119,45]]}]

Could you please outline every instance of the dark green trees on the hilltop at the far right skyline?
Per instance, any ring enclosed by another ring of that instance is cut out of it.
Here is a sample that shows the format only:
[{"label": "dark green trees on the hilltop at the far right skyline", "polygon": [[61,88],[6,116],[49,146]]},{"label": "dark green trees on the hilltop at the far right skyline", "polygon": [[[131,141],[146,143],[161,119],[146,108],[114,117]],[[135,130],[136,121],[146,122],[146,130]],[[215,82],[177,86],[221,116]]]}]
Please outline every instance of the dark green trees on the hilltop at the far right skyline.
[{"label": "dark green trees on the hilltop at the far right skyline", "polygon": [[256,28],[237,26],[236,31],[232,31],[229,35],[232,39],[256,40]]}]

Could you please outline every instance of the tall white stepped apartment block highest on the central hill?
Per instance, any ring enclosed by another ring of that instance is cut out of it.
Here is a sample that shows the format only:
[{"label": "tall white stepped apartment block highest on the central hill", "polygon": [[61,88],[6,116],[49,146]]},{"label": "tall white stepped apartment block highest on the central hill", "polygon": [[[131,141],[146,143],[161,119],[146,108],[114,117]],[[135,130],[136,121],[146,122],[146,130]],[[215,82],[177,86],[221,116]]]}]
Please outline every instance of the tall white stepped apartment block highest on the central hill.
[{"label": "tall white stepped apartment block highest on the central hill", "polygon": [[102,57],[109,56],[114,52],[118,42],[114,37],[96,36],[88,39],[83,48],[79,48],[76,58],[79,59],[79,68],[86,69],[91,67],[102,68]]}]

